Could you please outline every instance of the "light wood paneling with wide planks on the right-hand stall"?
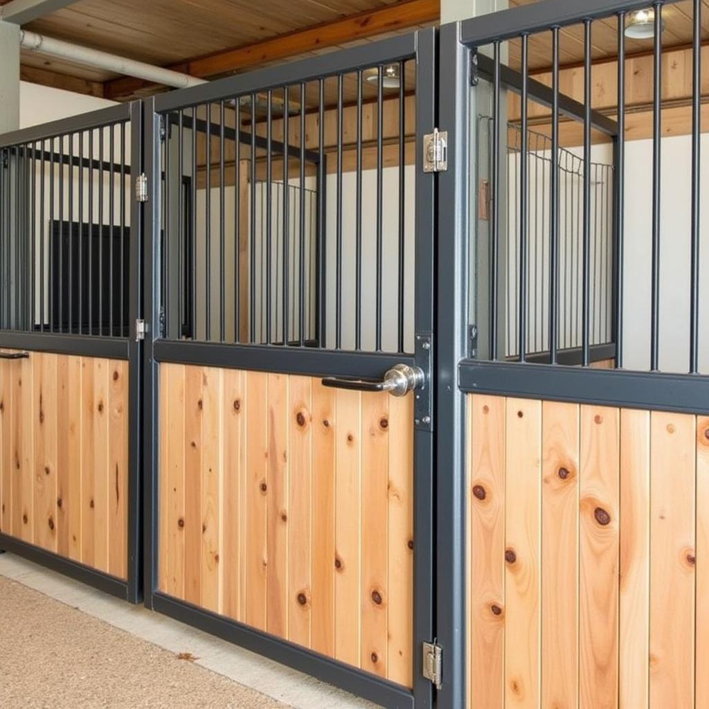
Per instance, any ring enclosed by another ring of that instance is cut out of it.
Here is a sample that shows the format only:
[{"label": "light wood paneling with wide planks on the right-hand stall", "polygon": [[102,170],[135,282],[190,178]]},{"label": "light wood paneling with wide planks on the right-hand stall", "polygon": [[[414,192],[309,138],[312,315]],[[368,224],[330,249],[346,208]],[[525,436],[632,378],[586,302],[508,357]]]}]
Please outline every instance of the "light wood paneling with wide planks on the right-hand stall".
[{"label": "light wood paneling with wide planks on the right-hand stall", "polygon": [[480,395],[468,415],[469,708],[707,706],[709,418]]}]

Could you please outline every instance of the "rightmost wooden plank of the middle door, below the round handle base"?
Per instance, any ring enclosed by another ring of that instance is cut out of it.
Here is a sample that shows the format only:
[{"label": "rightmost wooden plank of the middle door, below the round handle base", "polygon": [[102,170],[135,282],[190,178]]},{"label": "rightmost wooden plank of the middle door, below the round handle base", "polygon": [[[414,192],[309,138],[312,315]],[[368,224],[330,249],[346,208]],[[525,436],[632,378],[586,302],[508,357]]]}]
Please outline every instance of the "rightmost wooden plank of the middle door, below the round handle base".
[{"label": "rightmost wooden plank of the middle door, below the round handle base", "polygon": [[389,398],[387,679],[413,686],[413,393]]}]

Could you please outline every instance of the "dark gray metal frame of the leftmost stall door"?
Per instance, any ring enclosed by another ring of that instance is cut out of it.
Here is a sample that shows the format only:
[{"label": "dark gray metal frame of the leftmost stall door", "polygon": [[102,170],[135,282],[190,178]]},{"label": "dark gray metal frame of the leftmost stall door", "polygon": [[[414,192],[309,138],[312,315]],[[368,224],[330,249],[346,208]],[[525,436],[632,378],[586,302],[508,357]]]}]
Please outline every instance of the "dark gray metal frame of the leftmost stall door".
[{"label": "dark gray metal frame of the leftmost stall door", "polygon": [[[135,169],[142,159],[141,145],[141,104],[112,106],[101,111],[83,113],[72,118],[62,119],[37,125],[32,128],[0,135],[0,147],[9,147],[33,140],[42,140],[53,136],[65,135],[77,130],[99,128],[118,121],[130,121],[130,164]],[[140,172],[135,169],[135,172]],[[0,534],[0,548],[26,557],[31,561],[47,566],[65,576],[82,581],[85,584],[123,598],[130,603],[139,603],[143,599],[143,527],[142,527],[142,441],[140,428],[142,411],[142,343],[135,333],[135,320],[140,317],[142,308],[142,213],[140,206],[130,200],[130,223],[134,238],[130,239],[130,259],[128,264],[129,298],[129,337],[101,337],[90,335],[69,335],[67,333],[38,333],[17,330],[0,331],[0,347],[30,350],[33,352],[56,352],[58,354],[76,354],[86,357],[107,357],[125,359],[130,365],[129,403],[128,403],[128,579],[117,579],[110,574],[96,571],[89,566],[79,564],[59,554],[47,552],[17,540],[15,537]]]}]

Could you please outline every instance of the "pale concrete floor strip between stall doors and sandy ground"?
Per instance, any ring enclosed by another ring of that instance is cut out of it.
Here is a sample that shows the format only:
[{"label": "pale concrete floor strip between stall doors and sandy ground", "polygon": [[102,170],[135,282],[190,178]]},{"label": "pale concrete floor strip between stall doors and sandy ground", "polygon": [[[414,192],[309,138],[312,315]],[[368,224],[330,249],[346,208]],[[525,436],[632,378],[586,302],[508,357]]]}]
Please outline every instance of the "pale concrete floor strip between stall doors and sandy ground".
[{"label": "pale concrete floor strip between stall doors and sandy ground", "polygon": [[0,576],[34,588],[169,652],[189,652],[199,658],[196,664],[294,709],[371,709],[376,706],[177,620],[152,613],[142,605],[119,601],[13,554],[0,554]]}]

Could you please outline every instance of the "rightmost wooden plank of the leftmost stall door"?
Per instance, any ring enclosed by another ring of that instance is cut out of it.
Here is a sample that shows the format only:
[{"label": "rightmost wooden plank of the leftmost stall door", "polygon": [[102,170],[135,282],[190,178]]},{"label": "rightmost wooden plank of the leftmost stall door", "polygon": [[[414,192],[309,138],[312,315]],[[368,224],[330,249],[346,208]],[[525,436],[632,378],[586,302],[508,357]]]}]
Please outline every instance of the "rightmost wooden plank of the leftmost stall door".
[{"label": "rightmost wooden plank of the leftmost stall door", "polygon": [[128,577],[128,362],[108,363],[108,573]]}]

